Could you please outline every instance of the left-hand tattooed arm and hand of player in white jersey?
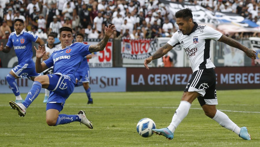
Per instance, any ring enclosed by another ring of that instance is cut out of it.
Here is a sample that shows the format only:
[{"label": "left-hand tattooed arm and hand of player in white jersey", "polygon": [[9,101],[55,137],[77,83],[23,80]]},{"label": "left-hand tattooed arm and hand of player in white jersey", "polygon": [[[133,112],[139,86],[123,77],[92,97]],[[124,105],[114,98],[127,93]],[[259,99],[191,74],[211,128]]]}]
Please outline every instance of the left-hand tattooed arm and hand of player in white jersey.
[{"label": "left-hand tattooed arm and hand of player in white jersey", "polygon": [[169,52],[172,48],[173,48],[173,46],[171,46],[170,44],[168,44],[168,43],[164,44],[164,46],[160,47],[152,56],[150,56],[144,60],[144,67],[146,67],[146,69],[149,69],[149,67],[147,66],[148,63],[150,63],[154,59],[161,58],[167,52]]}]

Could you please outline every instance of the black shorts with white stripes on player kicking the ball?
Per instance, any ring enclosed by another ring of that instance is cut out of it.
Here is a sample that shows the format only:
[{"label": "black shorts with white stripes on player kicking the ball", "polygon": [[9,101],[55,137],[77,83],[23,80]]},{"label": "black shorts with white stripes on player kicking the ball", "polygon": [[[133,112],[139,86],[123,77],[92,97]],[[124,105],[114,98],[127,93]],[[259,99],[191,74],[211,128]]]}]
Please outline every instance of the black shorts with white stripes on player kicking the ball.
[{"label": "black shorts with white stripes on player kicking the ball", "polygon": [[192,73],[184,92],[197,92],[200,106],[217,105],[216,73],[213,68],[200,69]]}]

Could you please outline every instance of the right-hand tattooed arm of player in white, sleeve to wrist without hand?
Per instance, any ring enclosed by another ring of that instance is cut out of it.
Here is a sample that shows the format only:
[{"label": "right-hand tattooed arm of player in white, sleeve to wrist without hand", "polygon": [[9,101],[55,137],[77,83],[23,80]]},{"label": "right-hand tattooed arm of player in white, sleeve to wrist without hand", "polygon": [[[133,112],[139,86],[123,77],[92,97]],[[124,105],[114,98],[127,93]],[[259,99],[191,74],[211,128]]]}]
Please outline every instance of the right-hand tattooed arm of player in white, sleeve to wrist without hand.
[{"label": "right-hand tattooed arm of player in white, sleeve to wrist without hand", "polygon": [[246,52],[246,50],[248,49],[247,47],[243,46],[242,44],[240,44],[235,39],[226,37],[225,35],[222,35],[218,41],[223,42],[223,43],[225,43],[229,46],[232,46],[234,48],[238,48],[239,50],[242,50],[243,52]]}]

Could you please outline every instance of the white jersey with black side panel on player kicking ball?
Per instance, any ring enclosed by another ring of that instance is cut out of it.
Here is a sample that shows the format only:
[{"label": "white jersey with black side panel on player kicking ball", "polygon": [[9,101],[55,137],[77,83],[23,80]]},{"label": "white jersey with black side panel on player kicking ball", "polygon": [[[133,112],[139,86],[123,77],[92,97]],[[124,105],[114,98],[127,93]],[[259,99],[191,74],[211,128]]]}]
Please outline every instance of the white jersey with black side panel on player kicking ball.
[{"label": "white jersey with black side panel on player kicking ball", "polygon": [[210,40],[217,41],[222,33],[208,26],[200,26],[196,22],[194,24],[195,26],[189,34],[183,35],[178,30],[167,43],[173,47],[179,44],[183,47],[193,72],[199,69],[214,68],[215,66],[211,62]]}]

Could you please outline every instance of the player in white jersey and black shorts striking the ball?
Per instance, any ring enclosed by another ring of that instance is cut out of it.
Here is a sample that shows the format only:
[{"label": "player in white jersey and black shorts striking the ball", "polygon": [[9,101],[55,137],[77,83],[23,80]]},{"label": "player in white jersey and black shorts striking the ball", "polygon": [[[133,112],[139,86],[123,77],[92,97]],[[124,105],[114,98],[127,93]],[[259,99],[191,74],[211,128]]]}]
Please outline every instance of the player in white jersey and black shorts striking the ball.
[{"label": "player in white jersey and black shorts striking the ball", "polygon": [[256,52],[211,27],[199,26],[196,22],[193,22],[192,10],[190,8],[179,10],[176,12],[175,17],[179,30],[174,33],[164,46],[145,59],[144,66],[149,69],[148,63],[154,59],[161,58],[173,47],[180,44],[190,60],[193,74],[184,90],[181,103],[175,111],[170,125],[163,129],[152,129],[152,131],[172,140],[175,129],[187,116],[191,103],[198,98],[203,111],[208,117],[218,122],[222,127],[235,132],[244,140],[251,140],[246,127],[239,128],[226,114],[216,109],[216,104],[218,104],[216,73],[214,71],[215,66],[211,62],[210,40],[224,42],[229,46],[238,48],[252,59],[256,59]]}]

